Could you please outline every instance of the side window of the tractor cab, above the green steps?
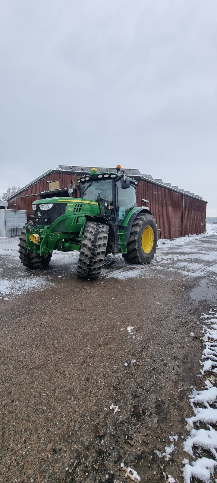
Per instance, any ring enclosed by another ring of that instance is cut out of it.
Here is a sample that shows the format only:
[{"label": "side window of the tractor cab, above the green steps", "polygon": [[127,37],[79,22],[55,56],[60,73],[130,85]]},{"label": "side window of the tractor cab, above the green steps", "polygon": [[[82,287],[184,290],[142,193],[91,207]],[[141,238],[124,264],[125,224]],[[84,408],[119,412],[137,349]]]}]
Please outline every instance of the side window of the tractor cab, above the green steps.
[{"label": "side window of the tractor cab, above the green steps", "polygon": [[116,221],[120,226],[123,224],[126,215],[129,213],[131,207],[136,204],[136,189],[130,185],[127,189],[122,189],[121,180],[117,182],[118,202]]}]

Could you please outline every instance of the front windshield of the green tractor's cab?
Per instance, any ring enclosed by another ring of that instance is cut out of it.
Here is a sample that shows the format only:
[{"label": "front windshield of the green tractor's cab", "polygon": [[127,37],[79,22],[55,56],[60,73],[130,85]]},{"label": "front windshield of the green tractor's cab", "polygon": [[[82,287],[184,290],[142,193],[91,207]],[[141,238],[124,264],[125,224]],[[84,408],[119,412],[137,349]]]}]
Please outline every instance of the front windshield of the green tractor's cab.
[{"label": "front windshield of the green tractor's cab", "polygon": [[[112,180],[96,180],[81,186],[80,198],[92,199],[101,205],[112,204]],[[108,204],[107,204],[108,203]]]}]

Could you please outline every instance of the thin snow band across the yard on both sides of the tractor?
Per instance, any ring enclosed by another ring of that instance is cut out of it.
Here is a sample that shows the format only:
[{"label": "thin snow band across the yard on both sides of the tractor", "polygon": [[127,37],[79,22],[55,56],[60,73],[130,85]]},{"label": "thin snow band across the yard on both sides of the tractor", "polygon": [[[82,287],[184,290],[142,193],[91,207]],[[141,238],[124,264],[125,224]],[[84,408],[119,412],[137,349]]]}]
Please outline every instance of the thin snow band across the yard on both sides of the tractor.
[{"label": "thin snow band across the yard on both sides of the tractor", "polygon": [[[209,234],[217,231],[217,225],[207,225]],[[157,253],[150,265],[130,265],[118,256],[108,256],[108,265],[102,269],[102,276],[107,278],[155,278],[162,276],[167,280],[181,275],[189,277],[211,276],[217,280],[217,252],[214,250],[215,240],[209,239],[199,243],[207,236],[191,235],[175,240],[159,240]],[[189,243],[191,241],[191,243]],[[57,276],[70,276],[76,273],[78,252],[53,252],[48,270],[39,270],[37,275],[26,270],[20,263],[18,254],[18,238],[0,238],[0,297],[14,297],[30,290],[43,290],[52,285]],[[165,270],[166,268],[166,270]]]}]

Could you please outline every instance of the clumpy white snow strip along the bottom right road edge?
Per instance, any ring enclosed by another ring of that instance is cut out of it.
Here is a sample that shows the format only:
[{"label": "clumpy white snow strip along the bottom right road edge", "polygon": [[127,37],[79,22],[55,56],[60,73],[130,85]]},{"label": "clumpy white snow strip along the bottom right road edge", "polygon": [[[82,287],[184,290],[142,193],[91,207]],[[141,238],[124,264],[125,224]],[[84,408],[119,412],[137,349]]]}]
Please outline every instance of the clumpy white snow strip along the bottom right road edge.
[{"label": "clumpy white snow strip along the bottom right road edge", "polygon": [[[189,398],[194,415],[188,418],[190,434],[184,441],[183,449],[194,460],[185,466],[185,483],[197,481],[209,483],[217,468],[217,305],[208,314],[203,314],[203,355],[201,360],[202,376],[205,377],[204,389],[192,389]],[[214,426],[214,427],[213,427]],[[217,480],[215,480],[217,481]]]}]

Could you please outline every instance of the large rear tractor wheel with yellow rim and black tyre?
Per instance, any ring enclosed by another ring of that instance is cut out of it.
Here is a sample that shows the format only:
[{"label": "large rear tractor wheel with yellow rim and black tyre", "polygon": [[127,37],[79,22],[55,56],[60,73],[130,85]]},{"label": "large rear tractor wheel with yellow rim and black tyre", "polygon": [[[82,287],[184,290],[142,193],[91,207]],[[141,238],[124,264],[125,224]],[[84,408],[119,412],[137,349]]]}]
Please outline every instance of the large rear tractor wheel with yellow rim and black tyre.
[{"label": "large rear tractor wheel with yellow rim and black tyre", "polygon": [[149,213],[139,213],[132,225],[127,243],[127,254],[122,257],[130,263],[150,263],[156,253],[158,231],[154,217]]}]

